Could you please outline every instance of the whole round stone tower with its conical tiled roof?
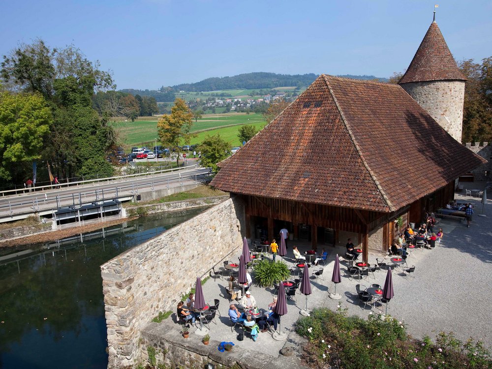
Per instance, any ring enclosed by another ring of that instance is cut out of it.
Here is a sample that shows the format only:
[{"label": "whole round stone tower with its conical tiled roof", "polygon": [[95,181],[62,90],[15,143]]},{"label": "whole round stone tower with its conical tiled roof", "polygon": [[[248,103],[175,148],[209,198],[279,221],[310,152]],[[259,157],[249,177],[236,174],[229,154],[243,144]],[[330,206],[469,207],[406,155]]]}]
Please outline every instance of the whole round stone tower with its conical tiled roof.
[{"label": "whole round stone tower with its conical tiled roof", "polygon": [[460,143],[465,81],[434,20],[398,84]]}]

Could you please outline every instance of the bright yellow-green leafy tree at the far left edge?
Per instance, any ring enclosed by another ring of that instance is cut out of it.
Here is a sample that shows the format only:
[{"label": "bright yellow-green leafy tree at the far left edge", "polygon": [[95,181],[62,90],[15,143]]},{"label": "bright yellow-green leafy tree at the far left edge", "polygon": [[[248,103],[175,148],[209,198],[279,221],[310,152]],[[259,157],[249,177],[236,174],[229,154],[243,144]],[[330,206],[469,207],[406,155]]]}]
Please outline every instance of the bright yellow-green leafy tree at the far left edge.
[{"label": "bright yellow-green leafy tree at the far left edge", "polygon": [[0,92],[0,179],[24,182],[53,121],[40,93]]}]

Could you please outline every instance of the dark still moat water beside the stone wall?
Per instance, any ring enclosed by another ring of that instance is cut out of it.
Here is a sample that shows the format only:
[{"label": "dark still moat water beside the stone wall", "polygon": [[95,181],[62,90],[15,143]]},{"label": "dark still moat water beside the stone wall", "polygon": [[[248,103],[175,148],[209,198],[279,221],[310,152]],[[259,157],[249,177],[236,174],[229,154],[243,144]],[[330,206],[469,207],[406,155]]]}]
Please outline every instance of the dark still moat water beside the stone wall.
[{"label": "dark still moat water beside the stone wall", "polygon": [[202,211],[0,249],[0,368],[107,368],[99,266]]}]

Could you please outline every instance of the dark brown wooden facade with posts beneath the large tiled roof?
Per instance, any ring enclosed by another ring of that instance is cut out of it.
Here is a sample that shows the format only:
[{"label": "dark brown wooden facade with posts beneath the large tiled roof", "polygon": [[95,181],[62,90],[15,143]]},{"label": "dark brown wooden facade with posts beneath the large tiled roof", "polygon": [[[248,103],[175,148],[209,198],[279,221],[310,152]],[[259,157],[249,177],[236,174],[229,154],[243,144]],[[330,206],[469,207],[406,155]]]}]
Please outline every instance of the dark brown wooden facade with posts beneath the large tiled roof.
[{"label": "dark brown wooden facade with posts beneath the large tiled roof", "polygon": [[[242,196],[245,202],[246,237],[251,238],[252,236],[253,217],[266,218],[269,240],[276,237],[274,233],[276,220],[291,223],[289,231],[296,240],[299,239],[299,226],[302,224],[309,225],[311,227],[310,240],[314,248],[318,244],[318,227],[335,230],[336,239],[339,231],[353,232],[359,235],[359,241],[362,241],[363,258],[367,260],[369,233],[371,231],[382,228],[383,242],[380,251],[384,253],[407,224],[410,222],[418,224],[423,220],[426,212],[434,212],[454,198],[454,182],[393,213],[371,212],[279,198],[238,195]],[[401,228],[395,222],[400,216],[402,218]]]}]

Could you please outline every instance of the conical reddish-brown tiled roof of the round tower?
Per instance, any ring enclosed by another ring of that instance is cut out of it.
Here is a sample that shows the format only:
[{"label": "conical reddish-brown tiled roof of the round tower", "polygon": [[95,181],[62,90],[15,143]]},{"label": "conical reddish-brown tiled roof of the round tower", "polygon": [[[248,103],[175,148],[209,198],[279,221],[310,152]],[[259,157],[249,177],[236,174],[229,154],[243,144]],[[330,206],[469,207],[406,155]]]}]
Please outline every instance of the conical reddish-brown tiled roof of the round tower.
[{"label": "conical reddish-brown tiled roof of the round tower", "polygon": [[466,78],[456,65],[437,23],[432,22],[398,83],[445,80],[466,81]]}]

